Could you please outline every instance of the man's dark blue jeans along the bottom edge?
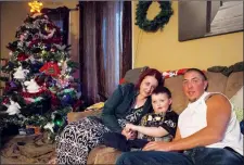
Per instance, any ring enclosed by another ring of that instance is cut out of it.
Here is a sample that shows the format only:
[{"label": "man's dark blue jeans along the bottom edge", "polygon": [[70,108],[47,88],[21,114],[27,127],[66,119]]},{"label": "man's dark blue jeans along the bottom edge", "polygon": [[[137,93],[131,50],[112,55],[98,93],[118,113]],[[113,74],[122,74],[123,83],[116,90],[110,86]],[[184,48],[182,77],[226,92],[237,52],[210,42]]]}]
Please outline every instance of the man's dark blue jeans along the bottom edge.
[{"label": "man's dark blue jeans along the bottom edge", "polygon": [[116,165],[243,165],[244,156],[227,149],[194,148],[183,153],[160,151],[125,152]]}]

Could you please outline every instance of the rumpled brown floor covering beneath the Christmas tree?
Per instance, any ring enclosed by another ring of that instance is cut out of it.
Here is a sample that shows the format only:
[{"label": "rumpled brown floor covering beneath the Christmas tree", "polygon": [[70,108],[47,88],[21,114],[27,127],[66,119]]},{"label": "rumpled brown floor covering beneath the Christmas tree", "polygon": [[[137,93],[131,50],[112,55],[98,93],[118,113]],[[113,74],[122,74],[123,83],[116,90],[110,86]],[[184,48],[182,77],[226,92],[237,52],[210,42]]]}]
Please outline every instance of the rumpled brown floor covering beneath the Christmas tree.
[{"label": "rumpled brown floor covering beneath the Christmas tree", "polygon": [[55,155],[55,143],[47,135],[14,136],[4,139],[1,164],[47,164]]}]

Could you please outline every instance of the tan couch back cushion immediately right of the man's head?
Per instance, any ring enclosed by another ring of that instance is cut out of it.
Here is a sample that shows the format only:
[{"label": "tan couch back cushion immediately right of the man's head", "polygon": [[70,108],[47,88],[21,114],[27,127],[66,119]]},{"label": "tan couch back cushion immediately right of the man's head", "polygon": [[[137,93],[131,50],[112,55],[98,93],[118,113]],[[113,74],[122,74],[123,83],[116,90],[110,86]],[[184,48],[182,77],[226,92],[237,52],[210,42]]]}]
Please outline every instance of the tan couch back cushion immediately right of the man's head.
[{"label": "tan couch back cushion immediately right of the man's head", "polygon": [[220,73],[206,73],[208,79],[208,89],[209,92],[221,92],[224,93],[224,89],[227,86],[228,77]]}]

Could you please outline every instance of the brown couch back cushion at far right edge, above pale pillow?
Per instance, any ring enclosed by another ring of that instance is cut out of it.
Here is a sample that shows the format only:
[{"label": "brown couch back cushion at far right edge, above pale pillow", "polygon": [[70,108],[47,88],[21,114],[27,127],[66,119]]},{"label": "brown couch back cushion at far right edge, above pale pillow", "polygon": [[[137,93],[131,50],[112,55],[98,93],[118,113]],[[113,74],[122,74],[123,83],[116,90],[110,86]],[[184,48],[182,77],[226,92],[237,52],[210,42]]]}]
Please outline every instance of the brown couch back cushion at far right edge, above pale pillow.
[{"label": "brown couch back cushion at far right edge, above pale pillow", "polygon": [[224,90],[224,94],[228,98],[232,98],[240,88],[243,86],[243,72],[232,73],[228,77],[227,87]]}]

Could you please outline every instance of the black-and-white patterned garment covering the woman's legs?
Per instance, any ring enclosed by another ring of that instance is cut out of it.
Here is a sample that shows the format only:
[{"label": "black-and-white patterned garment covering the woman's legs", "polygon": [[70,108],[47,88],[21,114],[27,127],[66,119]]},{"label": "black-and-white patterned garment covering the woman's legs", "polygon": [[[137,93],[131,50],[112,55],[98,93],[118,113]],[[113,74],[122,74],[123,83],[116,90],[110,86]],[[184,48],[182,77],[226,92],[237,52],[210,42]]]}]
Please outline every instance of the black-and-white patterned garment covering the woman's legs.
[{"label": "black-and-white patterned garment covering the woman's legs", "polygon": [[57,140],[57,164],[86,165],[91,149],[102,144],[108,132],[99,119],[85,117],[67,125]]}]

